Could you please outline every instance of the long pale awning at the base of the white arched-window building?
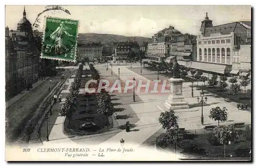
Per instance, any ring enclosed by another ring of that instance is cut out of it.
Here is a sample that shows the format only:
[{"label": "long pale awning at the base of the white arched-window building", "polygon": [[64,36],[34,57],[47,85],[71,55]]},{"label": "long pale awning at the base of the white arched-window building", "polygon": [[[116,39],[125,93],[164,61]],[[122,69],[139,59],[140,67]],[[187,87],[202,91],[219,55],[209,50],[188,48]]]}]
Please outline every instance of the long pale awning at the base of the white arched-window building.
[{"label": "long pale awning at the base of the white arched-window building", "polygon": [[206,70],[208,72],[224,74],[226,65],[203,63],[203,62],[192,62],[191,68]]}]

